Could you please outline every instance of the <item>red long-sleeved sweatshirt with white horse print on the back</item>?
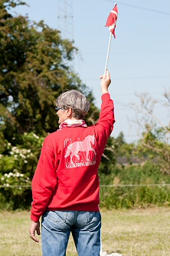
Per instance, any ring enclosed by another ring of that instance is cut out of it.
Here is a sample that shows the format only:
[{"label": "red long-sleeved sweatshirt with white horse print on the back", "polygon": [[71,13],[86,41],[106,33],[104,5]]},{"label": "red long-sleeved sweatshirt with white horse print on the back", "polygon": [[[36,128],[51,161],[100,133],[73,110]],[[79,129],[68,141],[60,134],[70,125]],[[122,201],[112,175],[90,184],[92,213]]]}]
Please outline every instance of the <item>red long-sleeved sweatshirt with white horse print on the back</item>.
[{"label": "red long-sleeved sweatshirt with white horse print on the back", "polygon": [[114,122],[106,93],[96,125],[64,127],[45,138],[32,180],[32,221],[44,211],[99,211],[98,168]]}]

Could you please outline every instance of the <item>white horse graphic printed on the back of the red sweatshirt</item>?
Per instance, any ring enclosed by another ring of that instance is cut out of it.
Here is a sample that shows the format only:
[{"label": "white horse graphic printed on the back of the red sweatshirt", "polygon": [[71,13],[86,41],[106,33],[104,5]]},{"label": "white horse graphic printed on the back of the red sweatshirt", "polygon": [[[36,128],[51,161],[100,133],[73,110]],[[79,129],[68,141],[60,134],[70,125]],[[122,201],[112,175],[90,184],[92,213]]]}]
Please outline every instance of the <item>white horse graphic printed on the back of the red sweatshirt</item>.
[{"label": "white horse graphic printed on the back of the red sweatshirt", "polygon": [[[67,146],[67,142],[70,141],[70,145]],[[70,162],[74,164],[74,157],[77,158],[77,161],[80,161],[80,155],[83,158],[83,161],[92,161],[96,158],[96,151],[93,146],[96,143],[96,139],[93,135],[88,135],[84,138],[83,141],[74,141],[71,143],[71,139],[65,140],[65,146],[67,146],[66,154],[64,158],[70,156]],[[93,145],[93,146],[92,146]],[[90,154],[90,151],[93,151],[93,156]],[[93,159],[91,159],[93,157]]]}]

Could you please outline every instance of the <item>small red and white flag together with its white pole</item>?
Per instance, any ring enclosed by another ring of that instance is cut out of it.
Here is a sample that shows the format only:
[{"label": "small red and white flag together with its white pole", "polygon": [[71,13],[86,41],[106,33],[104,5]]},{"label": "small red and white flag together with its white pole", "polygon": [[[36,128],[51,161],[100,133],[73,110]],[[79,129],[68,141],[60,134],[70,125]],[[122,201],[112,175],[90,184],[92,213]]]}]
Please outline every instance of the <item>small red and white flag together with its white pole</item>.
[{"label": "small red and white flag together with its white pole", "polygon": [[110,30],[110,41],[109,41],[109,46],[108,46],[108,50],[107,50],[106,65],[105,65],[104,74],[106,74],[107,63],[108,63],[108,60],[109,60],[112,35],[114,36],[114,38],[116,38],[115,28],[116,28],[117,17],[118,17],[118,8],[117,8],[117,4],[115,4],[113,10],[110,12],[109,17],[107,18],[106,25],[105,25],[105,27],[109,27],[109,30]]}]

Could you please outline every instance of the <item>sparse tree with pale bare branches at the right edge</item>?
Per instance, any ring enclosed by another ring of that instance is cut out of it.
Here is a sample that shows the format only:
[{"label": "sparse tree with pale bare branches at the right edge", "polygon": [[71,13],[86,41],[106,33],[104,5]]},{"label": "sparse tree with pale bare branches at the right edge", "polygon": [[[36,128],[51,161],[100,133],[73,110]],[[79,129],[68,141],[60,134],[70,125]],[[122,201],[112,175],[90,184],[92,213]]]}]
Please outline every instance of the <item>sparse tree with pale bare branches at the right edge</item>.
[{"label": "sparse tree with pale bare branches at the right edge", "polygon": [[[136,111],[136,124],[141,131],[137,151],[139,155],[152,159],[162,173],[170,175],[170,122],[164,125],[155,111],[160,104],[163,113],[170,113],[170,90],[165,91],[162,101],[144,93],[137,95],[139,105],[131,105]],[[168,119],[169,120],[169,119]]]}]

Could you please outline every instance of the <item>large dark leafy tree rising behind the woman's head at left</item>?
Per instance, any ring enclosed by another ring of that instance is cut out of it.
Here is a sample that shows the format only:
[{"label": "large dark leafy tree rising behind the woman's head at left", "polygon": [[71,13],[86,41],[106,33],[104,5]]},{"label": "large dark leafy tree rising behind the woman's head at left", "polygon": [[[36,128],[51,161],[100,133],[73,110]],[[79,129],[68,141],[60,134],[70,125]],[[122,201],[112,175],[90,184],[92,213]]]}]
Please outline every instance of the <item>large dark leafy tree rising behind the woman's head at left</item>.
[{"label": "large dark leafy tree rising behind the woman's head at left", "polygon": [[61,39],[60,32],[43,21],[10,14],[11,8],[24,4],[0,3],[0,128],[11,143],[25,132],[56,131],[55,100],[64,90],[79,89],[91,101],[89,116],[97,112],[91,91],[69,65],[77,52],[74,42]]}]

